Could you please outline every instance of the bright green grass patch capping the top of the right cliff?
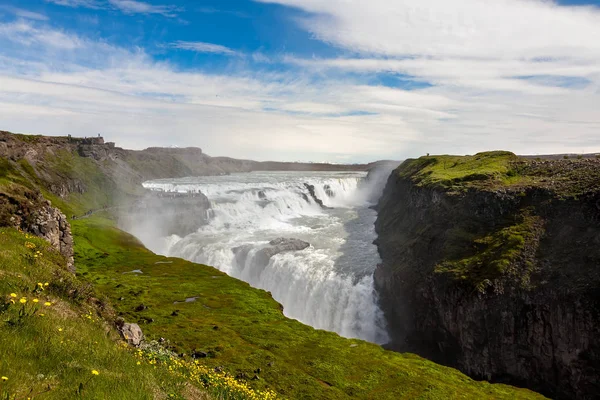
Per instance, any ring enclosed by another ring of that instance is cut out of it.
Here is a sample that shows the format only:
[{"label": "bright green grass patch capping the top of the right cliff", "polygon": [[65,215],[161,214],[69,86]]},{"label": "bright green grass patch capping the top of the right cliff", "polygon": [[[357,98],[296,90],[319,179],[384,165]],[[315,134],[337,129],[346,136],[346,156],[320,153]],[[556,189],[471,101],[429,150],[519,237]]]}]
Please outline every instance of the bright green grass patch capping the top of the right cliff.
[{"label": "bright green grass patch capping the top of the right cliff", "polygon": [[518,157],[507,151],[477,153],[473,156],[426,156],[405,161],[399,176],[410,178],[420,186],[445,189],[473,185],[508,183],[517,176],[512,163]]}]

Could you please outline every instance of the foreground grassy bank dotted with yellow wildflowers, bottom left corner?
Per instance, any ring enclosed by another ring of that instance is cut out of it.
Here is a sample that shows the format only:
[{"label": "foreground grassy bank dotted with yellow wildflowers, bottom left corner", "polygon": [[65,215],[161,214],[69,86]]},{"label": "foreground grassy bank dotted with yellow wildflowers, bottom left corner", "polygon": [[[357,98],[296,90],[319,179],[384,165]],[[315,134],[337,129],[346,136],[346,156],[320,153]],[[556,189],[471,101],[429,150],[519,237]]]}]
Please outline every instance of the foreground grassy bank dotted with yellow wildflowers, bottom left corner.
[{"label": "foreground grassy bank dotted with yellow wildflowers, bottom left corner", "polygon": [[156,345],[129,348],[112,314],[44,240],[0,229],[2,400],[271,397]]}]

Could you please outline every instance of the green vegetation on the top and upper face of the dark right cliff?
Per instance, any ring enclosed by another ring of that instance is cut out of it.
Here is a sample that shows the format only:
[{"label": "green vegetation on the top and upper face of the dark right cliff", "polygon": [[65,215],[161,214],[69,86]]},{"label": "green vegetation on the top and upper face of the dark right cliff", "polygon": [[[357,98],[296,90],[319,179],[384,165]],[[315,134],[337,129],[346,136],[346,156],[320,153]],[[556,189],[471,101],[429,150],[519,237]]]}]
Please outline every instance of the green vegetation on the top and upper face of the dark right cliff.
[{"label": "green vegetation on the top and upper face of the dark right cliff", "polygon": [[404,162],[397,176],[451,196],[489,192],[504,196],[510,207],[522,203],[487,226],[465,225],[465,220],[445,233],[444,259],[436,272],[450,273],[485,291],[506,275],[518,278],[523,287],[530,284],[534,247],[544,222],[531,208],[529,194],[565,200],[593,194],[600,190],[600,160],[543,161],[505,151],[426,156]]}]

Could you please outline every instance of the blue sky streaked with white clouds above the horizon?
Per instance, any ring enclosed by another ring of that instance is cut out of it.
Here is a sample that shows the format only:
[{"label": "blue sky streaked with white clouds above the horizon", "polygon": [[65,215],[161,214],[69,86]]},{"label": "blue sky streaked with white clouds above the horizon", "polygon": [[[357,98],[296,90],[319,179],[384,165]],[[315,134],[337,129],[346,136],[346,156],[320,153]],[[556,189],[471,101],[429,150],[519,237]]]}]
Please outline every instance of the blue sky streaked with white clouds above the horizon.
[{"label": "blue sky streaked with white clouds above the horizon", "polygon": [[0,0],[0,129],[255,160],[600,153],[600,0]]}]

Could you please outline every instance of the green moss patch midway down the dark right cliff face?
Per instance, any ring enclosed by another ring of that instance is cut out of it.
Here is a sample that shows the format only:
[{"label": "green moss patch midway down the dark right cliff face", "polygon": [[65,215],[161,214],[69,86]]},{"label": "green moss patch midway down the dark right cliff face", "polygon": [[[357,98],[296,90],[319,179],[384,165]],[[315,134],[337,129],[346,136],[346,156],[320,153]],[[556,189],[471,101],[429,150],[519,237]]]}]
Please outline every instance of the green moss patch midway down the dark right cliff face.
[{"label": "green moss patch midway down the dark right cliff face", "polygon": [[[448,232],[445,259],[435,268],[437,273],[451,274],[485,291],[492,281],[515,273],[515,265],[528,258],[526,250],[536,238],[541,219],[524,215],[509,226],[483,235],[455,228]],[[531,271],[521,271],[523,284],[529,282]]]}]

